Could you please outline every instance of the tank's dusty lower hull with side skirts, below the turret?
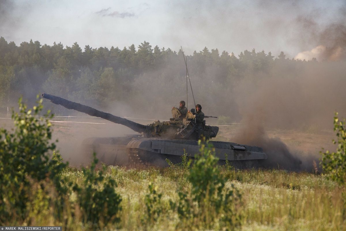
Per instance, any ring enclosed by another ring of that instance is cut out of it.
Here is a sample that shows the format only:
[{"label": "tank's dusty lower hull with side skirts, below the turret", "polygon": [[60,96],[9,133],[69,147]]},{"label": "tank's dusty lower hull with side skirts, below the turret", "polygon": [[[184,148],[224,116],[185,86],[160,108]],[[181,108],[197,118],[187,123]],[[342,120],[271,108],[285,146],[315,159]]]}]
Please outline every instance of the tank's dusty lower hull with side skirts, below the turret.
[{"label": "tank's dusty lower hull with side skirts, below the turret", "polygon": [[[215,148],[220,162],[226,158],[236,168],[256,167],[258,162],[267,159],[263,149],[257,146],[230,142],[209,141]],[[97,153],[101,162],[108,165],[151,163],[167,166],[166,159],[180,162],[185,152],[193,157],[199,152],[198,141],[157,138],[105,137],[89,138],[83,141],[84,154]]]}]

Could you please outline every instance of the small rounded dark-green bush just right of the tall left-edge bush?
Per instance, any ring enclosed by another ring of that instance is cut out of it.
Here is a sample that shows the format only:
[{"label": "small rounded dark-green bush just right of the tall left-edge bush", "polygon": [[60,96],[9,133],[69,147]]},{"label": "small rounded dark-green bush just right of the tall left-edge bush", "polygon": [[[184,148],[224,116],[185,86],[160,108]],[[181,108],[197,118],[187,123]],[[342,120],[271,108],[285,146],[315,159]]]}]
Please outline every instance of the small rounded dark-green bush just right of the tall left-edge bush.
[{"label": "small rounded dark-green bush just right of the tall left-edge bush", "polygon": [[115,192],[116,182],[110,177],[105,178],[104,171],[95,171],[98,159],[96,153],[90,168],[82,168],[84,181],[81,185],[74,184],[73,190],[77,193],[77,202],[84,214],[84,222],[91,222],[99,227],[108,223],[119,222],[117,216],[121,211],[121,198]]}]

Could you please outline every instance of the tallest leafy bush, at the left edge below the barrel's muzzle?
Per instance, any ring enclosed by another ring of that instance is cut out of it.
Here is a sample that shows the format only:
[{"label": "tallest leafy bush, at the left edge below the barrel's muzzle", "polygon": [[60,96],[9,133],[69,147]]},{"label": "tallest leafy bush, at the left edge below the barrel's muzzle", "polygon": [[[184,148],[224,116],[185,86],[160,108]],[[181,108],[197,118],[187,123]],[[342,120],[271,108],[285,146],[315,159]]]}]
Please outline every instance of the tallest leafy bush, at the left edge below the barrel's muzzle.
[{"label": "tallest leafy bush, at the left edge below the barrel's muzzle", "polygon": [[[27,109],[19,99],[19,113],[12,112],[15,130],[0,130],[0,220],[5,222],[9,217],[18,216],[24,219],[28,212],[32,182],[52,180],[59,189],[58,199],[66,193],[60,176],[67,164],[55,153],[52,160],[49,155],[55,149],[50,143],[52,136],[48,113],[45,118],[37,118],[43,109],[42,99],[32,109]],[[40,184],[45,191],[45,184]],[[51,199],[51,197],[49,197]],[[49,202],[50,203],[50,202]],[[61,205],[61,204],[60,204]],[[29,206],[30,207],[30,206]]]}]

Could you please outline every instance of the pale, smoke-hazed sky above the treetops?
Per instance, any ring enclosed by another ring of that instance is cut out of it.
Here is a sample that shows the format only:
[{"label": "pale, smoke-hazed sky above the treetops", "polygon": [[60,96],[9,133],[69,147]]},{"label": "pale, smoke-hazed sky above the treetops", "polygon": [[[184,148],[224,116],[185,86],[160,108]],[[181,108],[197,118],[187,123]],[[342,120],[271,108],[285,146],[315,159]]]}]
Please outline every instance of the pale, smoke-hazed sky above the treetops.
[{"label": "pale, smoke-hazed sky above the treetops", "polygon": [[334,46],[328,29],[345,24],[345,0],[0,0],[0,36],[16,45],[32,39],[123,48],[147,41],[174,51],[182,46],[188,55],[206,46],[220,54],[255,48],[293,58]]}]

